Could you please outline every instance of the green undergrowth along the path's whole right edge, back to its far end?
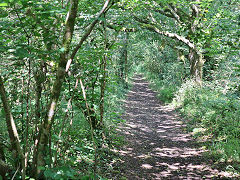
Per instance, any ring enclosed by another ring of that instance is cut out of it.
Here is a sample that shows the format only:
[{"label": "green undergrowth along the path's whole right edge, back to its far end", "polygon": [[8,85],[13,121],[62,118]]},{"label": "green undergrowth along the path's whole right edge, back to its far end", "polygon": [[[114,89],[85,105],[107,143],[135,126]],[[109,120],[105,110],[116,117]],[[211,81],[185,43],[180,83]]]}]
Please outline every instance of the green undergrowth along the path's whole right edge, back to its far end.
[{"label": "green undergrowth along the path's whole right edge, back to its far end", "polygon": [[211,81],[205,79],[202,87],[189,78],[174,78],[174,71],[179,73],[179,69],[164,65],[165,73],[161,69],[151,72],[146,65],[140,71],[152,83],[160,100],[174,106],[187,119],[187,130],[203,142],[209,150],[207,156],[224,170],[240,173],[240,79],[235,66],[236,61],[231,60],[220,64]]}]

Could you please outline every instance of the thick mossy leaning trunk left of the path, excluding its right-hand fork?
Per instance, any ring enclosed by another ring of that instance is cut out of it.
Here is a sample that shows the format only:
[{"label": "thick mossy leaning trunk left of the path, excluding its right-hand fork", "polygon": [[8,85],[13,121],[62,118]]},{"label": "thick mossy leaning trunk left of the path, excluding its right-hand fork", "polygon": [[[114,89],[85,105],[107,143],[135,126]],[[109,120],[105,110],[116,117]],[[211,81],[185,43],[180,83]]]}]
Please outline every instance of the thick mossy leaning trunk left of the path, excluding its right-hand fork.
[{"label": "thick mossy leaning trunk left of the path, excluding its right-hand fork", "polygon": [[33,168],[36,178],[43,177],[43,172],[42,170],[39,169],[39,166],[44,167],[46,165],[46,158],[50,158],[50,154],[47,152],[49,136],[51,133],[52,124],[54,123],[54,114],[61,93],[61,87],[64,81],[64,77],[66,74],[65,69],[68,60],[70,44],[72,41],[77,10],[78,0],[71,0],[62,43],[64,51],[60,54],[56,80],[53,85],[51,100],[47,108],[48,113],[39,132],[38,142],[34,153]]}]

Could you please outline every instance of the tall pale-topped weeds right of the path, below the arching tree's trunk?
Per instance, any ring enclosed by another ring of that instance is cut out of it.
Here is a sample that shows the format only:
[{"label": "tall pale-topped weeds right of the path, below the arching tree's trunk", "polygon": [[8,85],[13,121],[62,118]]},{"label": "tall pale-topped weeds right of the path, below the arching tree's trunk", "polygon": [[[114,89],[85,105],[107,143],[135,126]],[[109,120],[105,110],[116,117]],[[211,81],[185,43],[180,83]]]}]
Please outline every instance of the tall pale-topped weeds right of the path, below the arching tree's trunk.
[{"label": "tall pale-topped weeds right of the path, below the arching tree's trunk", "polygon": [[[191,119],[192,130],[205,130],[200,135],[209,138],[209,148],[218,154],[218,160],[240,163],[239,97],[225,94],[221,87],[210,83],[200,88],[193,81],[187,81],[176,93],[172,105]],[[240,171],[239,166],[235,168]]]}]

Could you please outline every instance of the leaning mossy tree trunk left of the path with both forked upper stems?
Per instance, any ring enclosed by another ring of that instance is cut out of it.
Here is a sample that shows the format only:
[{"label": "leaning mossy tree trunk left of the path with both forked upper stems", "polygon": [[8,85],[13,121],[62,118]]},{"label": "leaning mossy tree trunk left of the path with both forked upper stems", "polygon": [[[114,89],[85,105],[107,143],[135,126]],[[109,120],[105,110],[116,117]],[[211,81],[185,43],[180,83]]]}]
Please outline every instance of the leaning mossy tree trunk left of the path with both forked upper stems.
[{"label": "leaning mossy tree trunk left of the path with both forked upper stems", "polygon": [[[83,42],[87,39],[87,37],[92,32],[94,26],[96,25],[96,23],[99,21],[99,17],[106,10],[108,10],[107,8],[110,1],[111,0],[106,0],[96,20],[93,21],[89,26],[89,28],[86,30],[85,34],[82,36],[78,45],[74,48],[72,54],[70,55],[70,59],[68,60],[70,45],[72,41],[72,35],[74,31],[75,19],[76,19],[77,10],[78,10],[78,2],[79,2],[78,0],[70,0],[70,7],[67,14],[65,32],[63,35],[63,43],[62,43],[63,52],[60,54],[56,80],[52,88],[51,100],[47,107],[47,116],[40,128],[39,135],[37,138],[36,148],[34,150],[33,173],[36,178],[43,178],[43,172],[42,170],[39,169],[39,166],[46,165],[46,157],[47,155],[49,155],[47,153],[47,150],[49,149],[48,142],[49,142],[50,133],[51,133],[51,126],[54,123],[55,110],[56,110],[58,99],[61,93],[61,87],[65,78],[65,74],[68,71],[70,64],[74,59],[77,51],[81,48]],[[50,156],[48,158],[50,158]]]}]

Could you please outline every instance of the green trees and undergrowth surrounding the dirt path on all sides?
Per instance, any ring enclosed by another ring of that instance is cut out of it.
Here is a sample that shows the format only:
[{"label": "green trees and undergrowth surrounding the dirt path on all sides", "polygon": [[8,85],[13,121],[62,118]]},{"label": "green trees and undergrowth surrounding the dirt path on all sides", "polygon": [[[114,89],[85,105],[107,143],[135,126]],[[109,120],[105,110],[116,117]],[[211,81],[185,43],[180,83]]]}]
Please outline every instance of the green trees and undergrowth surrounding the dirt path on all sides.
[{"label": "green trees and undergrowth surrounding the dirt path on all sides", "polygon": [[7,0],[0,18],[0,179],[104,177],[136,72],[240,171],[238,0]]}]

